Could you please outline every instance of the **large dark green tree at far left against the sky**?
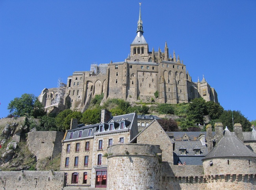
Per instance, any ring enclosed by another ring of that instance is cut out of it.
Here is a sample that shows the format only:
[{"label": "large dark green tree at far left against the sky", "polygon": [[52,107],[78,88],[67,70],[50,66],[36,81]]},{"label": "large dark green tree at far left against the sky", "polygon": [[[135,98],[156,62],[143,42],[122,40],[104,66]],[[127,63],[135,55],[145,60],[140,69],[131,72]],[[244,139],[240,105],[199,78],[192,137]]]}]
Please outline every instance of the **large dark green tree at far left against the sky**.
[{"label": "large dark green tree at far left against the sky", "polygon": [[[41,116],[42,113],[42,104],[38,101],[36,102],[37,97],[33,94],[22,94],[20,98],[15,98],[11,100],[8,104],[7,109],[15,117],[21,117],[24,115],[28,116]],[[35,104],[36,102],[36,104]],[[36,110],[33,112],[33,110]]]}]

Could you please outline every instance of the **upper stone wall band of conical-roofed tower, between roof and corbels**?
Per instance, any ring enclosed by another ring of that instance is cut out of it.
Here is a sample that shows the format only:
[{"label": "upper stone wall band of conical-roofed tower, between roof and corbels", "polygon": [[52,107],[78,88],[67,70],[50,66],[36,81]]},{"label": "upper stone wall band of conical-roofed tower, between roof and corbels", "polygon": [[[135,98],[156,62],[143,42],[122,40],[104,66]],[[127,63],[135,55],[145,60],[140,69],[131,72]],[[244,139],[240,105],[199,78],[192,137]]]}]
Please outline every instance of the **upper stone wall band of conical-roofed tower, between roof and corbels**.
[{"label": "upper stone wall band of conical-roofed tower, between roof and corbels", "polygon": [[[212,166],[210,165],[212,161]],[[256,158],[225,157],[211,158],[203,161],[204,175],[219,174],[256,174]]]}]

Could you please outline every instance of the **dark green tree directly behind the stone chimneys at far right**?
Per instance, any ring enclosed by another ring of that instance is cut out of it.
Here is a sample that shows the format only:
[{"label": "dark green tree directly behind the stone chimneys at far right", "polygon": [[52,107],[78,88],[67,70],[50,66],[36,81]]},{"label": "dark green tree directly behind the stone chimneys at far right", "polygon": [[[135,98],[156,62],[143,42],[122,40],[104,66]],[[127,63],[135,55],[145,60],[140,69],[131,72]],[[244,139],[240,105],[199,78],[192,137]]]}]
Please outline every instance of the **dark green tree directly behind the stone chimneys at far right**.
[{"label": "dark green tree directly behind the stone chimneys at far right", "polygon": [[251,131],[250,121],[241,113],[241,111],[231,111],[224,110],[223,114],[221,114],[220,122],[222,122],[223,126],[227,126],[228,130],[233,131],[233,122],[232,122],[232,112],[234,118],[234,124],[240,123],[242,125],[243,131]]}]

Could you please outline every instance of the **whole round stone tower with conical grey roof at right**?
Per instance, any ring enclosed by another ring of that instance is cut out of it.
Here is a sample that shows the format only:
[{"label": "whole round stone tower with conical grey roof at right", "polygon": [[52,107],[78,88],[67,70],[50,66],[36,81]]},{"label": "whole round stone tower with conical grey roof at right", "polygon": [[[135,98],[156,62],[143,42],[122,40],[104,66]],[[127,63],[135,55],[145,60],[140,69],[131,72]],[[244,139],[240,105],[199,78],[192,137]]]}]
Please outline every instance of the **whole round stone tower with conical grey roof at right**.
[{"label": "whole round stone tower with conical grey roof at right", "polygon": [[228,128],[202,161],[208,188],[256,189],[256,153]]}]

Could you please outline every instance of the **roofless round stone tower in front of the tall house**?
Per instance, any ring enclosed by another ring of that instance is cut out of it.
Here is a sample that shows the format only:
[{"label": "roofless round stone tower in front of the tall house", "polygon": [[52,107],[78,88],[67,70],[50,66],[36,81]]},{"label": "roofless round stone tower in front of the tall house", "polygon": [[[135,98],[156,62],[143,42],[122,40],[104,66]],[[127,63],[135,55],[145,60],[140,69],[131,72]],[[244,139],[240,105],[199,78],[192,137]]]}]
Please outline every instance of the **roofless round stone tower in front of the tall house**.
[{"label": "roofless round stone tower in front of the tall house", "polygon": [[156,156],[159,151],[157,146],[147,144],[110,146],[107,188],[162,189],[161,164]]}]

